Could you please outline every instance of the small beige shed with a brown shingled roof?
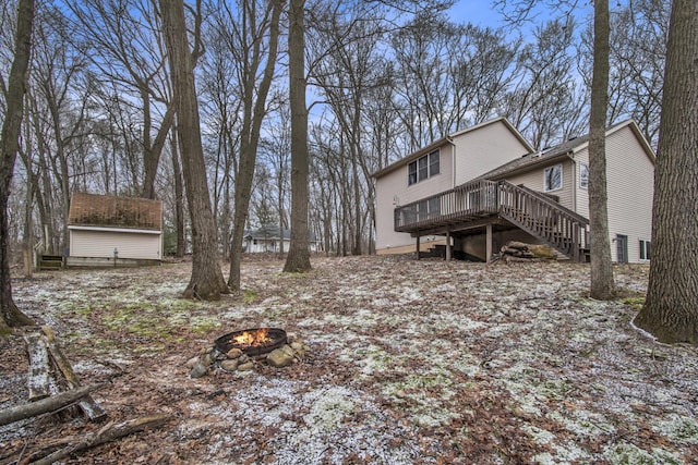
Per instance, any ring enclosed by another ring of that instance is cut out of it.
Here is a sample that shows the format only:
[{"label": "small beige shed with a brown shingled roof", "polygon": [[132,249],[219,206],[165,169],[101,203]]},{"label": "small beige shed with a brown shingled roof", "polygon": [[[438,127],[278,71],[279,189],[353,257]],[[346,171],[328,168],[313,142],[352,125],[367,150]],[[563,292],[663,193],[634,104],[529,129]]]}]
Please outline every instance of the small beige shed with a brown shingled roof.
[{"label": "small beige shed with a brown shingled roof", "polygon": [[68,266],[135,266],[163,259],[163,203],[73,193]]}]

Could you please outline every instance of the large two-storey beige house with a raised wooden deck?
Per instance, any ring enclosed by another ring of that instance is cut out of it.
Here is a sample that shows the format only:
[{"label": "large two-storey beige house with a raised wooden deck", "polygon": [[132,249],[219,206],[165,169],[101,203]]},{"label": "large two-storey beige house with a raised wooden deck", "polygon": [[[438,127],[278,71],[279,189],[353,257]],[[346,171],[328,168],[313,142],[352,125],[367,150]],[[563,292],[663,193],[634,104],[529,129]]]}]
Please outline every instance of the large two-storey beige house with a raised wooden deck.
[{"label": "large two-storey beige house with a raised wooden deck", "polygon": [[[377,253],[449,244],[448,256],[453,250],[488,260],[507,241],[517,240],[585,260],[590,247],[588,145],[583,136],[535,152],[504,119],[437,140],[374,173]],[[421,159],[435,150],[441,166],[432,176],[431,163],[424,172]],[[628,120],[609,129],[614,261],[649,260],[653,175],[654,154],[637,124]]]}]

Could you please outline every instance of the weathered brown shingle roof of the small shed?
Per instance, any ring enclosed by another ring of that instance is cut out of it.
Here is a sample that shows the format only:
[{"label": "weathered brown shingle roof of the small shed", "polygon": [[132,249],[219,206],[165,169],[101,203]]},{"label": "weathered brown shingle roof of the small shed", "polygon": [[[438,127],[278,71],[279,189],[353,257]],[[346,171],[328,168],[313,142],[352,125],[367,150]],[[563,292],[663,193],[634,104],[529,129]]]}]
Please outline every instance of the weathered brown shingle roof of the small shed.
[{"label": "weathered brown shingle roof of the small shed", "polygon": [[163,201],[75,192],[71,195],[69,225],[163,230]]}]

